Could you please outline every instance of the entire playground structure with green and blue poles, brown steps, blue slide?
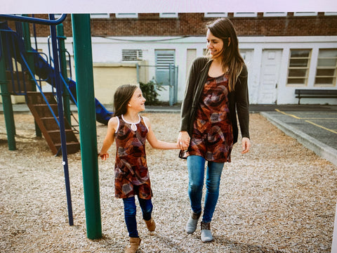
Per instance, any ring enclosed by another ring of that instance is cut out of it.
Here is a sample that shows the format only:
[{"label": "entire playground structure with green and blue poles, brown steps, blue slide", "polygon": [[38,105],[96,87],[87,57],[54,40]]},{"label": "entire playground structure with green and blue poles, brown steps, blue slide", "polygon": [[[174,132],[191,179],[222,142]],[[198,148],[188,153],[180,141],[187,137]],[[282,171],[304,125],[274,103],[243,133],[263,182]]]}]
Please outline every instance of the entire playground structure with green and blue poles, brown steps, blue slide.
[{"label": "entire playground structure with green and blue poles, brown steps, blue slide", "polygon": [[[90,15],[72,15],[77,83],[67,79],[65,37],[60,25],[66,16],[55,20],[54,15],[50,14],[49,20],[43,20],[34,18],[34,15],[0,15],[0,86],[8,149],[15,150],[11,95],[25,96],[37,125],[37,136],[41,136],[41,132],[44,134],[54,154],[62,151],[70,226],[73,225],[73,218],[67,154],[76,153],[81,148],[87,235],[90,239],[98,239],[102,236],[102,228],[95,120],[107,124],[112,112],[105,110],[93,96]],[[15,32],[8,27],[6,20],[15,21]],[[28,22],[50,26],[53,57],[49,56],[49,63],[37,49],[32,48]],[[41,82],[51,84],[51,92],[42,91]],[[70,96],[78,106],[81,145],[71,127]]]}]

